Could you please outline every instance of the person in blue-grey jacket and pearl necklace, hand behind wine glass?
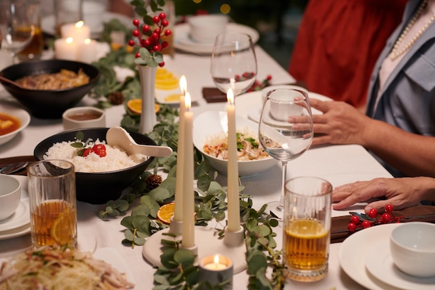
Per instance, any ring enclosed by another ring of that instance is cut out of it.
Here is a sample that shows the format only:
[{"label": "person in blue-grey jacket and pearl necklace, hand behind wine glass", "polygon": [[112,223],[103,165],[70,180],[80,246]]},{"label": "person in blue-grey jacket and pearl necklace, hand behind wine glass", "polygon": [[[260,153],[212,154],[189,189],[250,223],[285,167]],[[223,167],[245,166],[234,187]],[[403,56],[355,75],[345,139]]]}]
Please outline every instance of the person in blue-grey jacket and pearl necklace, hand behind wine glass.
[{"label": "person in blue-grey jacket and pearl necklace, hand behind wine glass", "polygon": [[395,177],[435,177],[435,0],[409,0],[381,52],[366,115],[345,102],[320,102],[313,145],[359,144]]}]

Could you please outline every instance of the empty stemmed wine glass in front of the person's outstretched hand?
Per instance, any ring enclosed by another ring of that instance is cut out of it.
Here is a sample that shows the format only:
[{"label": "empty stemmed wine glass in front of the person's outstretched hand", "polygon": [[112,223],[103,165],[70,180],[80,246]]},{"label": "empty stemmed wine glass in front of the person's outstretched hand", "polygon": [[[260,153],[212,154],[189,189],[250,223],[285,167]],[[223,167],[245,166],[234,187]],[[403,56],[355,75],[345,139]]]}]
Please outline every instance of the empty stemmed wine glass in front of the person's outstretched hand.
[{"label": "empty stemmed wine glass in front of the person's outstretched hand", "polygon": [[258,139],[265,152],[281,161],[281,198],[269,202],[266,211],[282,218],[287,163],[308,150],[313,140],[313,118],[307,93],[295,89],[268,92],[258,124]]}]

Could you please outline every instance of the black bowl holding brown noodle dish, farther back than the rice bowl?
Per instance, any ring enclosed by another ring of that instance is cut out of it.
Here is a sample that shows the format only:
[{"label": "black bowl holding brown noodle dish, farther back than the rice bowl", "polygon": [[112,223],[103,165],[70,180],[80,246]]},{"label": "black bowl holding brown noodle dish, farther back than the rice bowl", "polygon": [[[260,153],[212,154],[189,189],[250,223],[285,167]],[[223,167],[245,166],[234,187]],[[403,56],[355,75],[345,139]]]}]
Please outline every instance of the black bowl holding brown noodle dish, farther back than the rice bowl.
[{"label": "black bowl holding brown noodle dish, farther back than the rice bowl", "polygon": [[76,88],[63,90],[28,90],[19,88],[6,81],[0,80],[3,87],[25,106],[36,118],[58,119],[62,113],[80,102],[81,99],[93,88],[99,79],[97,67],[77,61],[47,60],[27,61],[17,65],[10,65],[0,72],[6,79],[16,81],[24,76],[35,74],[53,74],[61,69],[79,72],[82,69],[89,76],[89,83]]}]

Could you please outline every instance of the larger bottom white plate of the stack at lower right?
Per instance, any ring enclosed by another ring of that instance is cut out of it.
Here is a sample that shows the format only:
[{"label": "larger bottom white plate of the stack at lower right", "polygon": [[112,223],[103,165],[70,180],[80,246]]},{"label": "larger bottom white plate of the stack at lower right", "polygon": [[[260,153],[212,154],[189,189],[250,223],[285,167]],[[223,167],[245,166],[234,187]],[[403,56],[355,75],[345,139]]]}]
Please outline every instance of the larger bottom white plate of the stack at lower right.
[{"label": "larger bottom white plate of the stack at lower right", "polygon": [[388,241],[391,231],[398,225],[400,223],[375,225],[368,229],[361,229],[345,239],[338,252],[338,260],[343,271],[355,282],[368,289],[397,290],[397,287],[370,277],[366,270],[366,256],[373,245],[381,241]]}]

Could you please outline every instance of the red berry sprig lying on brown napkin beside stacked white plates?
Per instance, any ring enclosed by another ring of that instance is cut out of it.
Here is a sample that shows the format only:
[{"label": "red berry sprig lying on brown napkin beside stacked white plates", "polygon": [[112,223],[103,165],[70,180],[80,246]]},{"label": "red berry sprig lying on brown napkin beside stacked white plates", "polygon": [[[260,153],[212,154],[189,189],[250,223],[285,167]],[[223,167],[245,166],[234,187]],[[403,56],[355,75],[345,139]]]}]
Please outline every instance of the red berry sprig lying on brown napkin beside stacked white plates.
[{"label": "red berry sprig lying on brown napkin beside stacked white plates", "polygon": [[354,232],[357,229],[366,229],[372,227],[373,225],[380,225],[385,223],[400,223],[400,219],[404,216],[394,216],[393,214],[393,204],[387,204],[385,206],[384,214],[377,214],[376,209],[370,209],[367,216],[365,214],[351,213],[350,223],[347,224],[347,229],[350,232]]}]

